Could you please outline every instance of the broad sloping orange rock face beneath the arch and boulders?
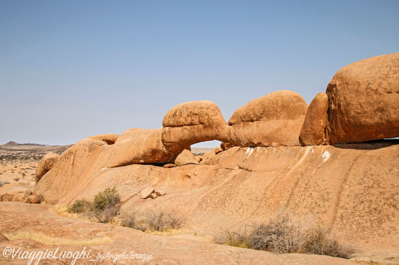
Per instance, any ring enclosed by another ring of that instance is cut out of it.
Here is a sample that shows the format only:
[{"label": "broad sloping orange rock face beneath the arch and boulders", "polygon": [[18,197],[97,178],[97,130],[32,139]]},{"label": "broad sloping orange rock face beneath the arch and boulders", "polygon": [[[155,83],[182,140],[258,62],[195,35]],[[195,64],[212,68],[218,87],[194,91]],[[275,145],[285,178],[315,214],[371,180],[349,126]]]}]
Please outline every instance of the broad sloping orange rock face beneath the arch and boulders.
[{"label": "broad sloping orange rock face beneath the arch and boulders", "polygon": [[[210,153],[213,157],[200,165],[172,169],[129,165],[94,171],[88,167],[92,162],[77,164],[82,158],[76,157],[73,170],[55,174],[57,163],[34,193],[49,203],[71,204],[116,186],[122,210],[173,209],[187,217],[185,226],[203,231],[264,222],[283,204],[298,216],[318,216],[347,242],[399,253],[399,140],[337,147],[236,146]],[[73,156],[69,165],[72,161]],[[140,191],[148,187],[168,194],[143,200]]]}]

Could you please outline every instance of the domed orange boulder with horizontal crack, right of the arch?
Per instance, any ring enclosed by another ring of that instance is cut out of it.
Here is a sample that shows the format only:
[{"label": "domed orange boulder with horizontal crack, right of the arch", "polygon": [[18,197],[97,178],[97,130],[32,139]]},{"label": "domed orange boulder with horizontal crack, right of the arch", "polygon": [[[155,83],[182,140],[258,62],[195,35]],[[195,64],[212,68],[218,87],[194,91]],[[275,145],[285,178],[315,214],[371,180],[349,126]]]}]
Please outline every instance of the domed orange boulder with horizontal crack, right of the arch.
[{"label": "domed orange boulder with horizontal crack, right of the arch", "polygon": [[308,105],[301,95],[275,91],[238,108],[228,121],[236,146],[299,146]]}]

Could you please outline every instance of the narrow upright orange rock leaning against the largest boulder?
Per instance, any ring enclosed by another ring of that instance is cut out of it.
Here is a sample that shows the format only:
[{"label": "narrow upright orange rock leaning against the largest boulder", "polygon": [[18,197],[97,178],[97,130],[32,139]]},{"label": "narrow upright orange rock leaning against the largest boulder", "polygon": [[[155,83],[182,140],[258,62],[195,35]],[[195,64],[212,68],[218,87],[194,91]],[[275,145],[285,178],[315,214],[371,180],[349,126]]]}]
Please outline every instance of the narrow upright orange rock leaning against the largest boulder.
[{"label": "narrow upright orange rock leaning against the largest boulder", "polygon": [[301,144],[321,145],[327,142],[325,130],[327,126],[328,96],[320,92],[309,105],[306,117],[299,134]]}]

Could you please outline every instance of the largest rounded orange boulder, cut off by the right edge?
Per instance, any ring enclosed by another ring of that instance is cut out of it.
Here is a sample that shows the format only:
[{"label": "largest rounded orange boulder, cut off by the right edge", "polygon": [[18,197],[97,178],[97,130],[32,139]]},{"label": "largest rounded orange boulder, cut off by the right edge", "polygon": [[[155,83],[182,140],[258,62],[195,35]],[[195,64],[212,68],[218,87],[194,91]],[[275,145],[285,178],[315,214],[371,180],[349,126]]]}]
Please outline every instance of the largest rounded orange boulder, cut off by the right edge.
[{"label": "largest rounded orange boulder, cut off by the right edge", "polygon": [[345,66],[326,93],[330,144],[399,136],[399,53]]}]

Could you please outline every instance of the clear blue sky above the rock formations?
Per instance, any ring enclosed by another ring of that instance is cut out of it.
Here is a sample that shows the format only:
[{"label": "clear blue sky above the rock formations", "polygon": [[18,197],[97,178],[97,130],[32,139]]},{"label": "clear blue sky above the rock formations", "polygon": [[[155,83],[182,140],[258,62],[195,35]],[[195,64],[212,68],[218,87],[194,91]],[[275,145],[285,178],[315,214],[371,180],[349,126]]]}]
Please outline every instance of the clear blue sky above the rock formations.
[{"label": "clear blue sky above the rock formations", "polygon": [[275,90],[309,104],[399,52],[399,1],[0,0],[0,36],[0,144],[64,145],[160,128],[186,101],[225,120]]}]

